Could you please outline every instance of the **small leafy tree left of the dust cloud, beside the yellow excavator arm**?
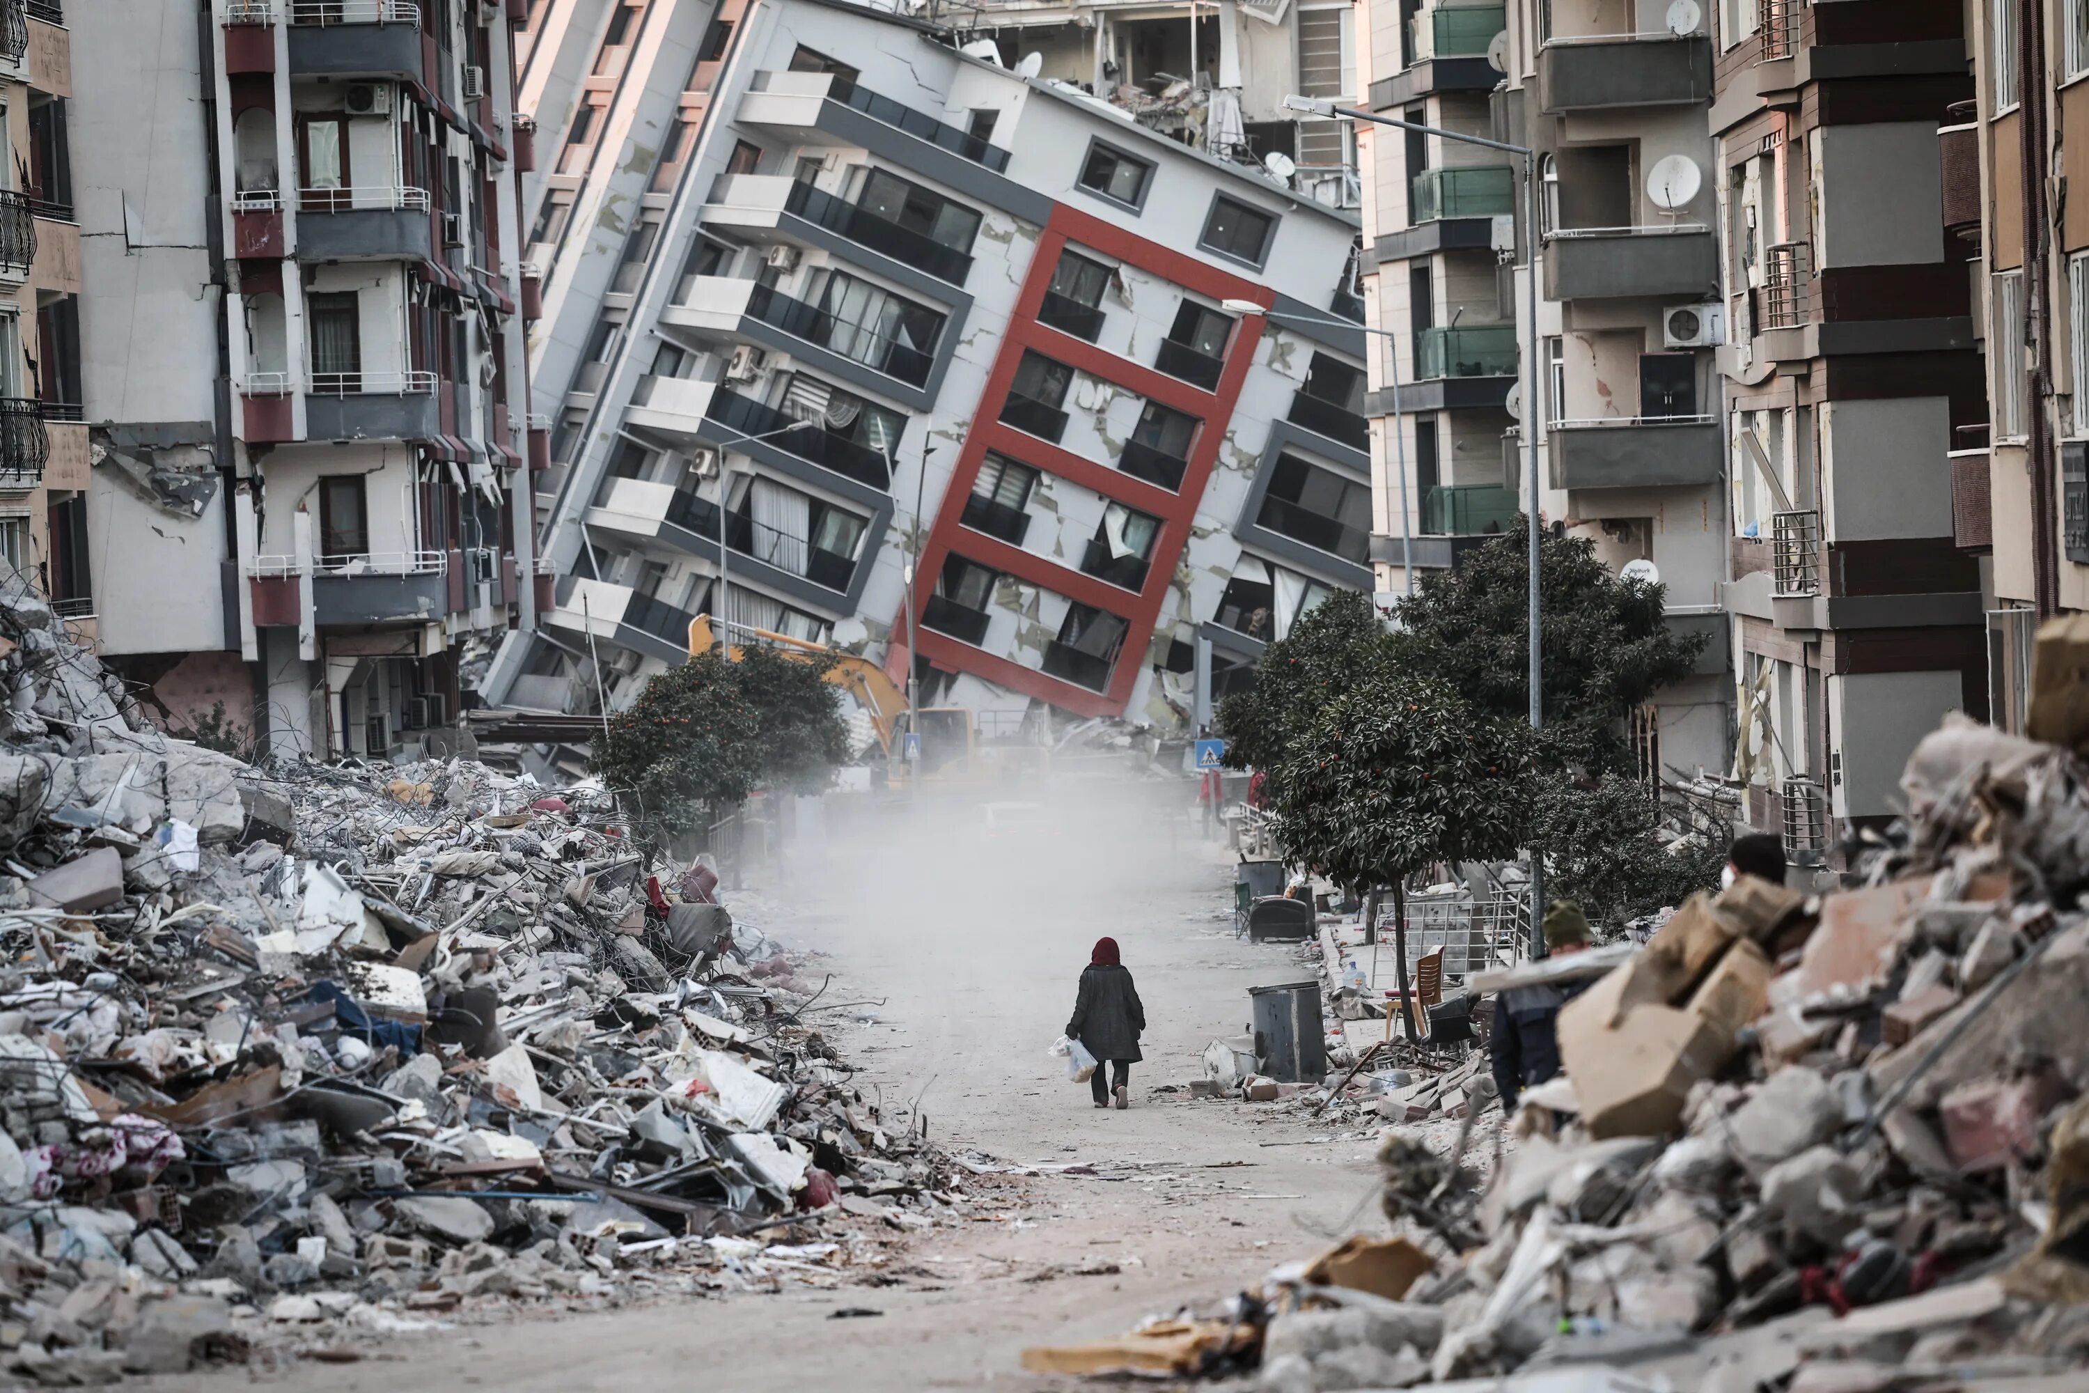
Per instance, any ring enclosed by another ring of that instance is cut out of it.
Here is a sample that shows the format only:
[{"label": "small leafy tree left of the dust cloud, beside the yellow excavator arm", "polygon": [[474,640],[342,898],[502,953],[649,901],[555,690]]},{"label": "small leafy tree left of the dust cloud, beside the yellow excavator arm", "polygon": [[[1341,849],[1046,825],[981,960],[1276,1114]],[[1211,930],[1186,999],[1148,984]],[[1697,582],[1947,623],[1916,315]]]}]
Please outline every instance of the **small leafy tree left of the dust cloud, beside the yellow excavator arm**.
[{"label": "small leafy tree left of the dust cloud, beside the yellow excavator arm", "polygon": [[848,758],[827,664],[748,647],[656,675],[595,739],[595,771],[662,835],[698,833],[756,787],[811,792]]}]

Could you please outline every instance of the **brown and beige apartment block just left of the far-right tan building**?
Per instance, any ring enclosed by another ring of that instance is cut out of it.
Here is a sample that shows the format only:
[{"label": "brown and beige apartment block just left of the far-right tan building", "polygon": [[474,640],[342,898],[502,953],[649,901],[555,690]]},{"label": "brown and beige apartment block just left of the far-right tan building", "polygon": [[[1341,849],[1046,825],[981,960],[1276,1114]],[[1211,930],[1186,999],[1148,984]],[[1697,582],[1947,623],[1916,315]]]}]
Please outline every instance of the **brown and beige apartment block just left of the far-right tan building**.
[{"label": "brown and beige apartment block just left of the far-right tan building", "polygon": [[[1907,754],[1947,710],[1989,712],[1980,564],[1955,545],[1951,497],[1955,447],[1982,445],[1989,420],[1980,267],[1947,228],[1968,213],[1939,155],[1974,96],[1964,15],[1982,8],[1713,13],[1734,773],[1746,821],[1799,860],[1895,814]],[[1997,265],[2020,240],[1997,232]]]}]

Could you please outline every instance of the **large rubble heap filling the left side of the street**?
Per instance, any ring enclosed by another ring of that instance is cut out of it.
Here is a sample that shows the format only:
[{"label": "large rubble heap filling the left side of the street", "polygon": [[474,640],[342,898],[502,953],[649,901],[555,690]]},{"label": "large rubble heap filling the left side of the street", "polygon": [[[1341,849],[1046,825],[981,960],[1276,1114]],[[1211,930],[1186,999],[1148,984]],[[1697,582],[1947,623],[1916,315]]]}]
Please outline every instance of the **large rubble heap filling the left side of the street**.
[{"label": "large rubble heap filling the left side of the street", "polygon": [[834,1284],[990,1170],[854,1092],[825,982],[600,789],[167,739],[19,576],[0,689],[10,1376]]}]

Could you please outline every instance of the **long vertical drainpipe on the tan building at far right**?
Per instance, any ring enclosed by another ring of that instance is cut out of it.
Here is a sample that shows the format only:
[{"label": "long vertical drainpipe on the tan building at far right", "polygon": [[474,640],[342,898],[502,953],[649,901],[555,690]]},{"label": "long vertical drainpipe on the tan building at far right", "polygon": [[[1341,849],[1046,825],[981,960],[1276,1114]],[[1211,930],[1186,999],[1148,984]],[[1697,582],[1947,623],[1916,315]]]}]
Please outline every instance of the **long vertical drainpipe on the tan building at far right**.
[{"label": "long vertical drainpipe on the tan building at far right", "polygon": [[2045,6],[2026,4],[2020,8],[2018,33],[2018,84],[2022,102],[2018,104],[2018,173],[2024,184],[2024,334],[2031,347],[2031,409],[2024,422],[2024,468],[2031,470],[2031,579],[2037,597],[2039,618],[2051,618],[2060,610],[2060,499],[2056,487],[2058,462],[2053,459],[2053,432],[2047,428],[2045,407],[2051,397],[2053,345],[2047,332],[2045,313],[2045,255],[2049,232],[2045,226]]}]

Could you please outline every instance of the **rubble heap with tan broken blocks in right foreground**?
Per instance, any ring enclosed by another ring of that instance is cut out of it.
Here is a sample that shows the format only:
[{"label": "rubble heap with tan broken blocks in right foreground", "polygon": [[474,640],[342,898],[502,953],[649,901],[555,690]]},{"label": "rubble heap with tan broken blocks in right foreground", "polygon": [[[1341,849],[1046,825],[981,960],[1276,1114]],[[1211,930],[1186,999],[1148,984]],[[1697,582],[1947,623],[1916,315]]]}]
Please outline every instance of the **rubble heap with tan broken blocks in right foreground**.
[{"label": "rubble heap with tan broken blocks in right foreground", "polygon": [[[1953,716],[1853,888],[1742,877],[1644,948],[1515,969],[1581,979],[1565,1073],[1506,1128],[1471,1092],[1483,1073],[1387,1094],[1402,1122],[1464,1117],[1450,1147],[1385,1134],[1395,1236],[1352,1241],[1368,1278],[1281,1268],[1170,1326],[1168,1355],[1132,1339],[1080,1366],[1260,1366],[1270,1393],[2085,1387],[2089,764],[2070,746]],[[1034,1366],[1072,1368],[1059,1353]]]}]

